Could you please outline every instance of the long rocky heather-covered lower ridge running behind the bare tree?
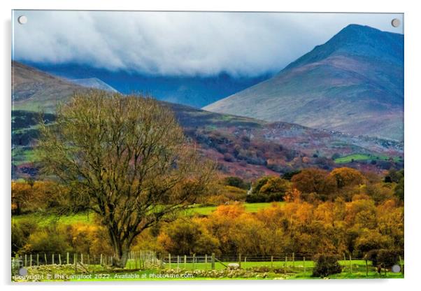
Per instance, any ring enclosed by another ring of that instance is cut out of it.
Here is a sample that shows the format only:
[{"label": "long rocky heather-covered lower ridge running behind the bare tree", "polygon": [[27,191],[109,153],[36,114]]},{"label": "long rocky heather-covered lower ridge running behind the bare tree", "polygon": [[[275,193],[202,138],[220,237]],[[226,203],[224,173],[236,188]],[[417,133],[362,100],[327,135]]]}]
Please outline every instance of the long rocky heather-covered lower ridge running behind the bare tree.
[{"label": "long rocky heather-covered lower ridge running behind the bare tree", "polygon": [[[46,112],[45,122],[54,122],[52,101],[66,102],[73,90],[87,89],[17,62],[12,65],[13,178],[36,176],[33,149],[38,137],[37,111]],[[222,175],[252,180],[310,166],[332,169],[343,165],[335,162],[336,157],[349,157],[349,166],[362,170],[383,171],[403,166],[403,143],[397,141],[213,113],[164,101],[162,104],[173,110],[200,154],[218,162]],[[352,155],[356,154],[359,156],[354,161]]]}]

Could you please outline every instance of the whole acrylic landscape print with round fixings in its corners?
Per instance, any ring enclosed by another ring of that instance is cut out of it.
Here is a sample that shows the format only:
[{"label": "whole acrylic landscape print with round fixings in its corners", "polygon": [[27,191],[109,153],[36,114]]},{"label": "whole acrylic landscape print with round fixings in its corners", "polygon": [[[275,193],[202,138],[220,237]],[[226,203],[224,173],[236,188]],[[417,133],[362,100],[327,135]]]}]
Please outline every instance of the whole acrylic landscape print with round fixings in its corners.
[{"label": "whole acrylic landscape print with round fixings in its corners", "polygon": [[12,281],[404,277],[403,14],[12,23]]}]

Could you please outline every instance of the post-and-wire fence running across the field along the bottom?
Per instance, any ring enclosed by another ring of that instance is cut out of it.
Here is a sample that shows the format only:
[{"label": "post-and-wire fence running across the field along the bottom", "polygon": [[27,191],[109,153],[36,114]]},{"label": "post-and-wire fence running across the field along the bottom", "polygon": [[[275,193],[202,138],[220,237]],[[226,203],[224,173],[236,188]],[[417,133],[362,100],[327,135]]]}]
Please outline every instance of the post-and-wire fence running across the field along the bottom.
[{"label": "post-and-wire fence running across the field along the bottom", "polygon": [[[90,255],[78,253],[65,254],[25,254],[21,257],[12,259],[12,269],[20,267],[33,267],[49,264],[73,264],[75,271],[77,265],[102,265],[111,266],[115,258],[108,255]],[[190,270],[208,270],[208,269],[226,269],[229,264],[236,263],[241,269],[249,268],[270,268],[279,273],[294,273],[300,271],[312,271],[315,263],[311,260],[310,255],[301,254],[283,254],[271,256],[256,255],[231,255],[231,256],[215,256],[211,255],[159,255],[149,250],[141,250],[131,252],[127,258],[126,269],[138,270],[145,268],[162,268],[162,269],[190,269]],[[364,258],[351,257],[343,255],[343,260],[339,261],[343,267],[343,271],[352,273],[364,273],[368,275],[369,269],[373,269],[371,261]],[[399,257],[399,266],[404,274],[404,263]],[[380,268],[381,270],[381,268]],[[385,268],[383,268],[385,271]]]}]

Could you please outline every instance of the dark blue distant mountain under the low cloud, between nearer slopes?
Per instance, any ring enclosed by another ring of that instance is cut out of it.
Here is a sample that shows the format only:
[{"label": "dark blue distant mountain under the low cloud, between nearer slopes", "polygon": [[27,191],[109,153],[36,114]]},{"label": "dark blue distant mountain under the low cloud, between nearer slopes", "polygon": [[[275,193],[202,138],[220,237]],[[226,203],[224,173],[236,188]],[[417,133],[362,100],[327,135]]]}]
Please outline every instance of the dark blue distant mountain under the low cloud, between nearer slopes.
[{"label": "dark blue distant mountain under the low cloud, between nearer slopes", "polygon": [[44,64],[25,62],[36,69],[68,79],[98,78],[123,94],[142,92],[171,103],[201,108],[271,77],[152,76],[133,71],[108,71],[87,64]]}]

